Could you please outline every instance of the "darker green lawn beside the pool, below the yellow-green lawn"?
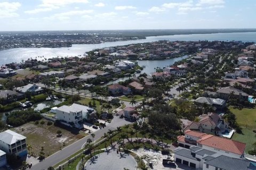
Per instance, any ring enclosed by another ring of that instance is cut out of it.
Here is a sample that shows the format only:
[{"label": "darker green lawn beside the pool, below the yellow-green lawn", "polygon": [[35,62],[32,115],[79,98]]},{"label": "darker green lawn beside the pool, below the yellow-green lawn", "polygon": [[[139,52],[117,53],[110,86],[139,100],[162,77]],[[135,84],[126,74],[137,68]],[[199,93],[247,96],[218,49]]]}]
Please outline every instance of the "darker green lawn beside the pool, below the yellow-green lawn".
[{"label": "darker green lawn beside the pool, below the yellow-green lawn", "polygon": [[254,133],[250,128],[242,127],[243,134],[234,133],[232,139],[237,140],[239,142],[246,143],[245,152],[248,153],[249,150],[252,150],[252,143],[256,142],[256,133]]}]

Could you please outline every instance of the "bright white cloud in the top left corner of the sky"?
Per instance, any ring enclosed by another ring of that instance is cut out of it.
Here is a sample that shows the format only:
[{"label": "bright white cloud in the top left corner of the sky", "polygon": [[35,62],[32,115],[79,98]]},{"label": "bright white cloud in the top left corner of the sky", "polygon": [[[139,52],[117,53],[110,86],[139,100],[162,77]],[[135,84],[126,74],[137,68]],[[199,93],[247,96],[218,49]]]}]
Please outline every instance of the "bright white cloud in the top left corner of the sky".
[{"label": "bright white cloud in the top left corner of the sky", "polygon": [[18,2],[0,2],[0,18],[11,18],[19,16],[16,11],[21,6]]}]

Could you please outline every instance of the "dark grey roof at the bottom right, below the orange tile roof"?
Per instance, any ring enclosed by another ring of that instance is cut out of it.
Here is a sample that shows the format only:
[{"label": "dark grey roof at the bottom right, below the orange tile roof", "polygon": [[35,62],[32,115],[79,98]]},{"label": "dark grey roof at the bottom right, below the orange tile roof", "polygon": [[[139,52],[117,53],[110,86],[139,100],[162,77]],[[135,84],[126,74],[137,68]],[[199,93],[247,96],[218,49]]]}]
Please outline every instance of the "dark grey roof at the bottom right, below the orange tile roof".
[{"label": "dark grey roof at the bottom right, below the orange tile roof", "polygon": [[217,158],[206,161],[205,164],[225,170],[246,170],[251,163],[245,159],[231,158],[221,155]]}]

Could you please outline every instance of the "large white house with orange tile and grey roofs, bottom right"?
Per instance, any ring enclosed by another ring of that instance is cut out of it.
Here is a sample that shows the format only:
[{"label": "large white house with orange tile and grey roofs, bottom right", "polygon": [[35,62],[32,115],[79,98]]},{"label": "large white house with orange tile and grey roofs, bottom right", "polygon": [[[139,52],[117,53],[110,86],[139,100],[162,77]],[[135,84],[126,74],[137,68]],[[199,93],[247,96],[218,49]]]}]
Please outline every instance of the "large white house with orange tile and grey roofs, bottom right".
[{"label": "large white house with orange tile and grey roofs, bottom right", "polygon": [[[255,165],[243,159],[245,143],[191,130],[179,136],[178,143],[179,147],[174,150],[176,163],[203,170],[256,169]],[[231,165],[232,160],[237,162]]]}]

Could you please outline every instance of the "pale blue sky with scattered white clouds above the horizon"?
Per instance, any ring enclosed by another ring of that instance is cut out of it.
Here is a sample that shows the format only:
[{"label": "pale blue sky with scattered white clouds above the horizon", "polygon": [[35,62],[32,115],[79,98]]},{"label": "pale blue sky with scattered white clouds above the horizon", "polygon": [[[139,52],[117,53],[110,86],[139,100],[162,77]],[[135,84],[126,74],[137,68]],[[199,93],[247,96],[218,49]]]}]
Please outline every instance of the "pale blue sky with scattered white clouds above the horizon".
[{"label": "pale blue sky with scattered white clouds above the horizon", "polygon": [[0,0],[0,31],[256,28],[255,0]]}]

